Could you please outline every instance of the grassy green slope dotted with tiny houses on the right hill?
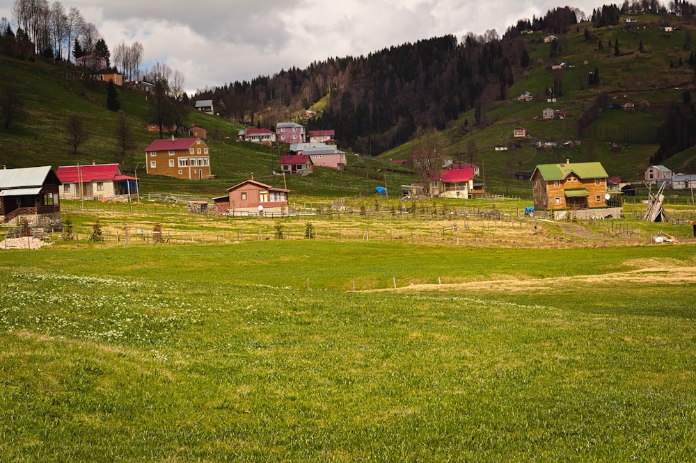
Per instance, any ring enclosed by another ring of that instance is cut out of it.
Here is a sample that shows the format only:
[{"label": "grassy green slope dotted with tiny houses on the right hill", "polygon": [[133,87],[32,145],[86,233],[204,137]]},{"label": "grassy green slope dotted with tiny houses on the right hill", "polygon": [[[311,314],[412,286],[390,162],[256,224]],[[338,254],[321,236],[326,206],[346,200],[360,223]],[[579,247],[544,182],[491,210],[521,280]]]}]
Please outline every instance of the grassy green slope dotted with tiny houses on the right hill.
[{"label": "grassy green slope dotted with tiny houses on the right hill", "polygon": [[[622,18],[623,19],[623,18]],[[571,159],[581,162],[588,159],[601,161],[611,176],[626,180],[635,180],[636,175],[642,179],[644,170],[649,165],[649,157],[657,149],[656,145],[630,143],[621,154],[610,153],[610,141],[622,143],[622,136],[627,128],[640,131],[654,131],[662,120],[661,105],[665,101],[681,101],[683,90],[677,87],[690,85],[693,72],[688,65],[678,67],[679,59],[686,63],[690,49],[683,49],[684,31],[694,31],[693,24],[681,23],[673,19],[674,26],[681,26],[683,31],[665,35],[658,29],[660,18],[656,15],[641,15],[633,31],[622,31],[619,26],[594,29],[590,23],[580,24],[579,30],[572,30],[560,38],[564,47],[562,55],[551,58],[548,44],[540,43],[543,34],[525,36],[526,46],[530,50],[532,65],[523,75],[516,76],[516,83],[509,90],[505,101],[496,101],[488,113],[489,126],[484,130],[471,125],[474,122],[473,111],[460,117],[448,129],[448,138],[452,140],[450,154],[468,155],[469,140],[474,140],[477,147],[475,162],[485,164],[491,177],[503,177],[510,171],[533,170],[541,163],[556,163]],[[596,45],[583,38],[585,28],[603,42],[603,52],[597,51]],[[619,40],[621,56],[614,56],[614,48],[608,47]],[[640,41],[644,53],[639,54]],[[585,65],[584,60],[588,61]],[[546,67],[553,63],[566,61],[570,67],[563,71],[563,96],[555,104],[547,103],[544,89],[551,88],[553,74]],[[670,68],[670,62],[677,67]],[[601,76],[599,89],[587,88],[587,72],[597,67]],[[580,138],[583,144],[578,149],[556,149],[553,153],[540,152],[531,146],[533,140],[578,140],[576,121],[584,108],[592,104],[596,92],[606,92],[610,102],[621,103],[648,101],[647,111],[639,108],[633,112],[605,111],[600,119],[592,124],[585,133],[589,136]],[[523,91],[530,91],[535,100],[520,104],[516,96]],[[541,120],[541,111],[552,107],[569,113],[566,120]],[[535,119],[536,117],[536,119]],[[464,121],[470,125],[464,127]],[[516,140],[512,129],[518,125],[529,129],[531,140]],[[604,134],[592,143],[593,133]],[[613,134],[613,136],[612,136]],[[605,139],[606,138],[606,139]],[[521,143],[519,149],[510,152],[496,152],[493,147],[499,144],[512,145]],[[592,148],[590,148],[592,147]],[[593,153],[591,154],[590,151]],[[384,158],[409,159],[409,144],[397,147],[381,154]],[[665,161],[668,167],[677,168],[693,159],[693,154],[678,154]]]}]

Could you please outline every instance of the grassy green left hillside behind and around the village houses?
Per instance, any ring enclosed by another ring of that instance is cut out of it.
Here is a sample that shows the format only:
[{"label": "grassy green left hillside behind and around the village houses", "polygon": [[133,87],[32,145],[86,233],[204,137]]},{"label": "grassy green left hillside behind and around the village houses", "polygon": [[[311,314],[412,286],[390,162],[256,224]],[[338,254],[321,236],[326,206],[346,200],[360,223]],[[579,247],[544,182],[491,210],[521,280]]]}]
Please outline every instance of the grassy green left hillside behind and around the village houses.
[{"label": "grassy green left hillside behind and around the village houses", "polygon": [[[84,79],[65,79],[71,76],[72,65],[48,64],[40,60],[2,58],[0,91],[11,90],[22,99],[26,117],[13,122],[8,129],[0,129],[0,163],[7,168],[33,165],[75,165],[95,161],[110,163],[118,154],[116,127],[119,114],[106,109],[106,83]],[[131,88],[118,88],[121,111],[127,117],[134,136],[134,147],[129,150],[122,165],[127,172],[141,177],[142,193],[169,192],[192,193],[202,197],[224,194],[233,186],[254,173],[255,179],[273,186],[284,186],[298,195],[329,197],[354,196],[372,193],[381,185],[365,177],[367,165],[379,168],[386,164],[379,160],[349,156],[348,172],[334,172],[317,168],[309,177],[274,176],[279,170],[280,149],[262,147],[253,143],[238,143],[237,133],[241,124],[222,117],[191,112],[188,123],[198,122],[207,129],[212,174],[206,181],[182,181],[161,176],[148,176],[145,171],[145,147],[159,138],[159,133],[148,132],[150,103],[147,95]],[[77,156],[65,140],[65,125],[70,115],[80,115],[89,134],[88,140],[78,149]],[[390,165],[393,166],[393,165]],[[395,175],[395,181],[409,176]],[[285,183],[284,183],[285,182]]]}]

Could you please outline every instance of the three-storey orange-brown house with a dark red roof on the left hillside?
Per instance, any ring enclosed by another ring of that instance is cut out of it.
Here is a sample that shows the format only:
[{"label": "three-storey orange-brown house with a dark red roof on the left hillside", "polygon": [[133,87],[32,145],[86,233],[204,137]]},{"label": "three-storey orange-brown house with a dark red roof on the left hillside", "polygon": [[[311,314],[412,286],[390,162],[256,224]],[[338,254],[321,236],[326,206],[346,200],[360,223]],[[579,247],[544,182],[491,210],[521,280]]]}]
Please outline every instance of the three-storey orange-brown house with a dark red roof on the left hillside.
[{"label": "three-storey orange-brown house with a dark red roof on the left hillside", "polygon": [[208,145],[200,138],[163,138],[145,148],[148,174],[168,175],[177,179],[210,179]]}]

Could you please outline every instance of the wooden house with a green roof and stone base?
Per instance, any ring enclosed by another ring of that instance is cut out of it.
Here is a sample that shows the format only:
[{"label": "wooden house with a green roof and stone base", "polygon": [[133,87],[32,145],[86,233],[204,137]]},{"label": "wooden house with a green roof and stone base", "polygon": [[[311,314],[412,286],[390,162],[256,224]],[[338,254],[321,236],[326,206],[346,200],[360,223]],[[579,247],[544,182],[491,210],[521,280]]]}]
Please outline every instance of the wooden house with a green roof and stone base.
[{"label": "wooden house with a green roof and stone base", "polygon": [[607,197],[608,177],[601,163],[596,162],[537,165],[530,179],[534,208],[537,211],[606,209],[612,197]]}]

